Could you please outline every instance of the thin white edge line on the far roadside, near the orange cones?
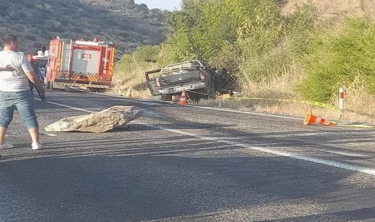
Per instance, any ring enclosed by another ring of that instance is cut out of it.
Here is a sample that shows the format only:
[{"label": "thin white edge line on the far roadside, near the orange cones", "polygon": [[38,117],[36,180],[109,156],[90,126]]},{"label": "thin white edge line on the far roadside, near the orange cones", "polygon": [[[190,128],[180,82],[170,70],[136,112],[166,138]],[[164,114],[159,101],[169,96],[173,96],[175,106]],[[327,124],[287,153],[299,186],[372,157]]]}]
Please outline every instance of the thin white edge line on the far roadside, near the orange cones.
[{"label": "thin white edge line on the far roadside, near the orange cones", "polygon": [[[75,89],[75,90],[84,92],[83,90],[79,90],[79,89]],[[123,97],[123,96],[116,96],[116,95],[112,95],[112,94],[97,93],[97,92],[89,92],[89,93],[98,94],[98,95],[102,95],[102,96],[117,97],[117,98],[122,98],[124,100],[130,100],[130,101],[134,100],[134,101],[142,102],[141,104],[150,104],[150,103],[154,104],[155,103],[155,101],[147,100],[147,99],[126,98],[126,97]],[[163,103],[163,101],[158,101],[158,102],[159,103]],[[164,103],[166,103],[166,104],[172,104],[172,103],[168,103],[168,102],[164,102]],[[237,112],[237,113],[251,114],[251,115],[262,115],[262,116],[277,117],[277,118],[284,118],[284,119],[303,120],[303,118],[283,116],[283,115],[272,115],[272,114],[265,114],[265,113],[259,113],[259,112],[247,112],[247,111],[239,111],[239,110],[227,110],[227,109],[221,109],[221,108],[201,107],[201,106],[194,106],[194,105],[184,105],[184,106],[185,107],[194,107],[194,108],[199,108],[199,109],[206,109],[206,110],[228,111],[228,112]]]}]

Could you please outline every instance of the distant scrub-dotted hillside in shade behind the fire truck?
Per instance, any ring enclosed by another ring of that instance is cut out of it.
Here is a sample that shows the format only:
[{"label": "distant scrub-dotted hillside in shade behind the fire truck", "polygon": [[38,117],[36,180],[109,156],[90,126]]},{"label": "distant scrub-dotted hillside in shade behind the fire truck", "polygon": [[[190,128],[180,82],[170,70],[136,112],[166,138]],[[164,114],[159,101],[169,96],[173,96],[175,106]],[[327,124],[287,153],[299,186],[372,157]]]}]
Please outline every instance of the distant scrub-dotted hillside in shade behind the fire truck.
[{"label": "distant scrub-dotted hillside in shade behind the fire truck", "polygon": [[117,44],[119,54],[144,44],[160,43],[166,33],[163,12],[134,0],[0,0],[0,34],[23,40],[36,51],[55,37],[92,39]]}]

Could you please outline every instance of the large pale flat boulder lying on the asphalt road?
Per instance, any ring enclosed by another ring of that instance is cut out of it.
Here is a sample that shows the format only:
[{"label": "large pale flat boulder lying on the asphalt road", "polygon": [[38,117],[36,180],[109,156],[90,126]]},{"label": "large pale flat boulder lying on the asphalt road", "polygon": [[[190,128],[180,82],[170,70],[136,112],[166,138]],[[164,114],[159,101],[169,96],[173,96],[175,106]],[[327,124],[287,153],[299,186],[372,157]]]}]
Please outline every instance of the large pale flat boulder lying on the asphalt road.
[{"label": "large pale flat boulder lying on the asphalt road", "polygon": [[107,132],[142,116],[143,111],[134,106],[114,106],[96,113],[60,119],[45,127],[46,132]]}]

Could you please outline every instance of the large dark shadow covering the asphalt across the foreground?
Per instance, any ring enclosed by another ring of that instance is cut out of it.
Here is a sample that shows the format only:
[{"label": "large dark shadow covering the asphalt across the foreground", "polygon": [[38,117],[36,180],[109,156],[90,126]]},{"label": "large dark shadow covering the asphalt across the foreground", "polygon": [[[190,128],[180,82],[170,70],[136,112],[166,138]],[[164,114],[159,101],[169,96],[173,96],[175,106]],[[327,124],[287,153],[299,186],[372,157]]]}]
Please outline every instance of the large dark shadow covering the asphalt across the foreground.
[{"label": "large dark shadow covering the asphalt across the foreground", "polygon": [[[353,206],[373,203],[369,190],[342,184],[351,172],[327,173],[318,165],[291,163],[286,157],[181,154],[112,156],[107,151],[2,162],[1,185],[13,189],[1,195],[28,202],[17,208],[0,204],[0,219],[130,222],[240,209],[244,215],[232,218],[257,221],[252,212],[259,207],[268,209],[264,213],[269,217],[280,218],[263,222],[374,219],[374,208],[320,213],[348,201]],[[347,193],[350,196],[342,198]],[[333,201],[338,197],[342,199]]]}]

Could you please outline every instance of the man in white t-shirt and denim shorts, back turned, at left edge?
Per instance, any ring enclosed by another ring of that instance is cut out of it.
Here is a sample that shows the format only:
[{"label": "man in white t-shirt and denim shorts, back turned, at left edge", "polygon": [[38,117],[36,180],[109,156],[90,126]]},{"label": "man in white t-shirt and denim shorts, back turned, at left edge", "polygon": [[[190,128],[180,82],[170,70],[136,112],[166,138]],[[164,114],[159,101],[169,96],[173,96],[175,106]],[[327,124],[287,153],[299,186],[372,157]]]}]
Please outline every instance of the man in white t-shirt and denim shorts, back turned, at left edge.
[{"label": "man in white t-shirt and denim shorts, back turned, at left edge", "polygon": [[[0,148],[13,148],[5,143],[6,130],[13,119],[15,108],[22,116],[32,139],[32,148],[40,149],[39,125],[35,114],[34,96],[29,80],[44,95],[37,74],[26,57],[18,54],[19,39],[13,35],[2,37],[3,51],[0,52]],[[14,68],[14,70],[13,70]],[[13,71],[11,71],[13,70]]]}]

